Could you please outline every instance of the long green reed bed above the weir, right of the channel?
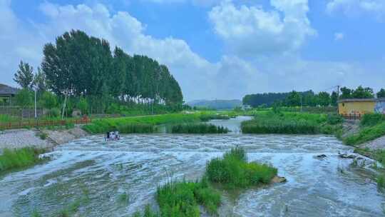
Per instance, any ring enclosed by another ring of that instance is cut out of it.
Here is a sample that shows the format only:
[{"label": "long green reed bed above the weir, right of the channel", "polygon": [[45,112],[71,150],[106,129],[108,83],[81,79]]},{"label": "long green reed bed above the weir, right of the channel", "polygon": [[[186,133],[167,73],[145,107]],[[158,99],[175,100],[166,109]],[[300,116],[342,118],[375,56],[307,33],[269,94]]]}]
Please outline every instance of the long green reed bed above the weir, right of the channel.
[{"label": "long green reed bed above the weir, right of the channel", "polygon": [[337,116],[317,113],[268,112],[242,122],[242,133],[333,134],[341,126]]}]

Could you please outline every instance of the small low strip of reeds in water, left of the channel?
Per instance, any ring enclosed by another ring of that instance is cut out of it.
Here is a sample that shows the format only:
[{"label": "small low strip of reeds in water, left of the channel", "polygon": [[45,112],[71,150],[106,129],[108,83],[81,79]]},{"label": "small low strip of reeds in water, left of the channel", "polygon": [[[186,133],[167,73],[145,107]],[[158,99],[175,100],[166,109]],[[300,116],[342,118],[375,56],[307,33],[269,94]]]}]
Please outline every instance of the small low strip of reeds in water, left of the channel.
[{"label": "small low strip of reeds in water, left of the channel", "polygon": [[228,133],[230,130],[223,126],[207,123],[185,123],[174,125],[171,133]]}]

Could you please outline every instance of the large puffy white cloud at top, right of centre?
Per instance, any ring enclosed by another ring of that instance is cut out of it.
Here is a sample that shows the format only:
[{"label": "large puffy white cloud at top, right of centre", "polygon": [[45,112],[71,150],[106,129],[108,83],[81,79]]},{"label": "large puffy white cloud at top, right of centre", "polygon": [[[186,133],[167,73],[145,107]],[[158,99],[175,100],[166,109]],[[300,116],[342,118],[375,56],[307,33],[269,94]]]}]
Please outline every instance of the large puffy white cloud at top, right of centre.
[{"label": "large puffy white cloud at top, right of centre", "polygon": [[209,13],[215,32],[230,51],[240,56],[296,51],[317,32],[307,19],[307,0],[271,0],[272,11],[262,6],[235,6],[223,1]]}]

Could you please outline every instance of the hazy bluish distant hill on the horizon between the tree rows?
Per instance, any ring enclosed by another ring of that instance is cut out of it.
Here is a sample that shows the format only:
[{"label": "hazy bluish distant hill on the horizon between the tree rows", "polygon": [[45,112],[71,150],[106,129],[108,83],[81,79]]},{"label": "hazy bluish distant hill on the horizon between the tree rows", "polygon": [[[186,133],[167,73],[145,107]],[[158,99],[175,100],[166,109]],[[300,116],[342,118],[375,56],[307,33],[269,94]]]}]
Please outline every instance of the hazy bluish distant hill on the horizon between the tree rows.
[{"label": "hazy bluish distant hill on the horizon between the tree rows", "polygon": [[205,107],[209,109],[234,109],[237,106],[242,106],[242,101],[239,99],[232,100],[194,100],[187,103],[191,107]]}]

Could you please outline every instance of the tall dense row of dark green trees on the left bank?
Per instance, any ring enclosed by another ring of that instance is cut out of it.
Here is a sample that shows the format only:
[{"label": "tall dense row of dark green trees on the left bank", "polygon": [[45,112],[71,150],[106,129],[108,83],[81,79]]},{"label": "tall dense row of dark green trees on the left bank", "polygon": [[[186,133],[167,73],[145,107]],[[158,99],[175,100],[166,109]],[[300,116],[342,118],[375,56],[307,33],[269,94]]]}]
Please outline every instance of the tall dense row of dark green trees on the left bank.
[{"label": "tall dense row of dark green trees on the left bank", "polygon": [[[23,89],[46,91],[59,99],[87,99],[90,107],[107,109],[107,102],[180,106],[183,94],[167,66],[147,56],[126,54],[108,41],[70,31],[43,48],[43,62],[33,67],[21,61],[14,80]],[[48,96],[46,94],[46,96]]]}]

